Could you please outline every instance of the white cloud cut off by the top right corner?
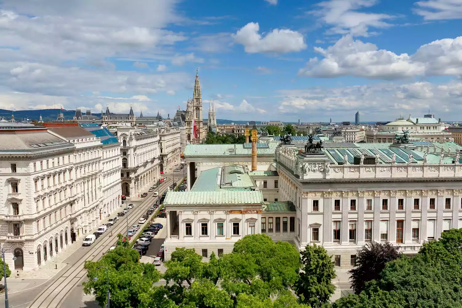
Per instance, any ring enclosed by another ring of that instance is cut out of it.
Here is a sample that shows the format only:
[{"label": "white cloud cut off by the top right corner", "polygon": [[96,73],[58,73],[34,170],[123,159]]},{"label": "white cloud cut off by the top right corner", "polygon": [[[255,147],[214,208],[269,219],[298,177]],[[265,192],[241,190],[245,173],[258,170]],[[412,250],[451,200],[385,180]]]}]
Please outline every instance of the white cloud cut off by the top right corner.
[{"label": "white cloud cut off by the top right corner", "polygon": [[439,19],[461,19],[462,1],[461,0],[426,0],[417,1],[414,12],[424,17],[425,20]]}]

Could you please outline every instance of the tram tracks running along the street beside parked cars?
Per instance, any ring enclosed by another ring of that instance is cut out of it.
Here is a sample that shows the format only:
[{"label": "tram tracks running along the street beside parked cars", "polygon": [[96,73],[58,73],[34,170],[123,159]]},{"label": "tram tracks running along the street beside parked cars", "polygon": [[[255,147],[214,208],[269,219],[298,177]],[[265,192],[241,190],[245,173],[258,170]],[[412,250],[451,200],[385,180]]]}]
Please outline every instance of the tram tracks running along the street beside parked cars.
[{"label": "tram tracks running along the street beside parked cars", "polygon": [[[158,193],[164,193],[170,184],[173,183],[172,179],[167,179],[162,184]],[[128,223],[134,224],[143,213],[151,206],[156,200],[152,199],[152,195],[146,197],[140,205],[135,206],[134,209],[130,210],[128,215]],[[127,219],[127,218],[126,218]],[[125,234],[127,231],[126,219],[120,219],[119,223],[116,223],[110,228],[114,235],[118,233]],[[140,228],[140,231],[142,228]],[[54,280],[41,291],[39,295],[34,298],[28,308],[58,308],[62,301],[67,297],[67,294],[86,276],[86,270],[84,269],[85,261],[97,261],[103,256],[103,252],[108,250],[108,246],[112,246],[117,242],[116,236],[109,236],[110,232],[105,232],[103,236],[100,236],[100,241],[97,245],[93,246],[82,258],[77,260],[72,266],[70,266],[63,274],[59,274],[53,278]]]}]

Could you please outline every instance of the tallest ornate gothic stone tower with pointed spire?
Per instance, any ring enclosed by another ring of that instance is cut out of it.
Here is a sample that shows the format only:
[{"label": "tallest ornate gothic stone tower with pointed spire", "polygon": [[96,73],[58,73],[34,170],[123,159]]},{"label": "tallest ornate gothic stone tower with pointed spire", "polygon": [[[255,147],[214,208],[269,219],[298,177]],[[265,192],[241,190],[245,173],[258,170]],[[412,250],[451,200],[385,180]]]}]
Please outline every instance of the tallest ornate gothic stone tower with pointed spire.
[{"label": "tallest ornate gothic stone tower with pointed spire", "polygon": [[[193,121],[194,120],[194,121]],[[194,125],[196,127],[194,138]],[[193,98],[188,100],[186,107],[186,140],[190,143],[202,143],[207,137],[207,127],[204,127],[202,116],[202,94],[199,73],[196,71]]]}]

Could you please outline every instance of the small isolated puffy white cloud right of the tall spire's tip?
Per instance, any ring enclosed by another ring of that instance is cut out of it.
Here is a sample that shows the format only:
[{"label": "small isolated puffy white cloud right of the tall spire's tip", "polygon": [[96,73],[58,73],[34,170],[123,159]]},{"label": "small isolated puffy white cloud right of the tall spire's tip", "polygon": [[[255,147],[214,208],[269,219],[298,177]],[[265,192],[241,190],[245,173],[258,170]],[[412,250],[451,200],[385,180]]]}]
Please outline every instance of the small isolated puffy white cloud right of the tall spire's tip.
[{"label": "small isolated puffy white cloud right of the tall spire's tip", "polygon": [[249,54],[298,52],[306,48],[303,35],[297,31],[274,29],[263,36],[258,33],[259,30],[258,23],[248,23],[232,37]]}]

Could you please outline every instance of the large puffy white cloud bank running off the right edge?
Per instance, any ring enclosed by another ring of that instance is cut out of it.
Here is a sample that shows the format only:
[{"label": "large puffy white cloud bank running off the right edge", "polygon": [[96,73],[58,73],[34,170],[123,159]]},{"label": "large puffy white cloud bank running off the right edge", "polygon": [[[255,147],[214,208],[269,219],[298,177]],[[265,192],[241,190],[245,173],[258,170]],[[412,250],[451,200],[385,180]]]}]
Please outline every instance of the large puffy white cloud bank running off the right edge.
[{"label": "large puffy white cloud bank running off the right edge", "polygon": [[415,54],[395,54],[379,50],[372,43],[354,41],[351,35],[342,37],[326,49],[315,47],[324,58],[311,58],[299,76],[355,76],[368,79],[393,80],[414,75],[462,74],[462,36],[442,39],[420,46]]}]

